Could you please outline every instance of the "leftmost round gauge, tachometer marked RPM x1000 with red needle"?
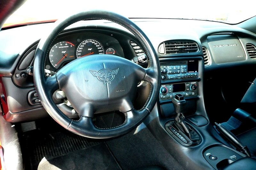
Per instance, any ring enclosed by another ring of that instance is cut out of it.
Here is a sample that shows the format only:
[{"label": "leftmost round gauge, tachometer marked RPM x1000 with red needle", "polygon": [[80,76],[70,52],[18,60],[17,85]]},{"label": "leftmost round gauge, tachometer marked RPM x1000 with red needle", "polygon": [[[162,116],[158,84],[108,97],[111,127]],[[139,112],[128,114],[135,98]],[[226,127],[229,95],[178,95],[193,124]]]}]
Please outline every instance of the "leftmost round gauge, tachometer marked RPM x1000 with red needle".
[{"label": "leftmost round gauge, tachometer marked RPM x1000 with red needle", "polygon": [[58,69],[62,63],[76,59],[75,45],[68,41],[61,41],[55,44],[49,52],[49,60],[55,69]]}]

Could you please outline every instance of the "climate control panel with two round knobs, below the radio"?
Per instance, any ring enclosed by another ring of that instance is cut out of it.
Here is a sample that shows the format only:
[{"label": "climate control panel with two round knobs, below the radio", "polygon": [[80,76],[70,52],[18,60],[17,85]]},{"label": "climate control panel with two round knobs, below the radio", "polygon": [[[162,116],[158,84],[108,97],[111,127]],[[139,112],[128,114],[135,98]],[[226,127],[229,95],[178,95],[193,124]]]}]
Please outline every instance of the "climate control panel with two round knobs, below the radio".
[{"label": "climate control panel with two round knobs, below the radio", "polygon": [[196,81],[161,85],[159,100],[171,100],[175,94],[182,94],[184,97],[196,97],[197,85],[198,82]]}]

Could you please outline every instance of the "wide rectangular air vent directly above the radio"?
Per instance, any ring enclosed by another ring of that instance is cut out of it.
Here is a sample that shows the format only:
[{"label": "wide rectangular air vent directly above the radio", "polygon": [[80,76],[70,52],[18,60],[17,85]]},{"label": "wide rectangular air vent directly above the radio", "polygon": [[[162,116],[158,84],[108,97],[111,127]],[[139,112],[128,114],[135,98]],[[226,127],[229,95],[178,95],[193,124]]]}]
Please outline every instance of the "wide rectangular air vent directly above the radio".
[{"label": "wide rectangular air vent directly above the radio", "polygon": [[198,45],[192,41],[172,41],[164,44],[166,54],[195,53],[198,51]]}]

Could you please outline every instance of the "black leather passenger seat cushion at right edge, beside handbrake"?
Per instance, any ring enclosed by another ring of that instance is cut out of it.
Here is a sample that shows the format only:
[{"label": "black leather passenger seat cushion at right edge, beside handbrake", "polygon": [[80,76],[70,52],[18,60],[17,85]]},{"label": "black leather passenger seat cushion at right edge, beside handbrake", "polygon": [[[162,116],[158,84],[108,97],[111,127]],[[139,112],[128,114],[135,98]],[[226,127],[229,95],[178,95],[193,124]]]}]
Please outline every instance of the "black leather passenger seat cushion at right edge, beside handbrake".
[{"label": "black leather passenger seat cushion at right edge, beside handbrake", "polygon": [[251,154],[256,155],[256,128],[248,130],[240,135],[237,135],[237,138],[248,147]]}]

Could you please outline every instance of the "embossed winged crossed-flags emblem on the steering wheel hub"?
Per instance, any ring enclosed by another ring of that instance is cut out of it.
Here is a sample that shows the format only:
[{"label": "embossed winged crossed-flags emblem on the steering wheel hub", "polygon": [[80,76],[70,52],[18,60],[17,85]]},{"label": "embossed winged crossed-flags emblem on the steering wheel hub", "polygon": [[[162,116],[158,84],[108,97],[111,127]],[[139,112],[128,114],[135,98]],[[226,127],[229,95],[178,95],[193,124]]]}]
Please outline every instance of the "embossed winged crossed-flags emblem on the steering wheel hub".
[{"label": "embossed winged crossed-flags emblem on the steering wheel hub", "polygon": [[102,69],[100,71],[90,70],[90,72],[92,73],[93,76],[97,77],[98,80],[103,82],[103,84],[106,84],[106,82],[110,84],[110,81],[115,78],[115,75],[116,75],[118,69],[119,68],[114,69],[114,70]]}]

